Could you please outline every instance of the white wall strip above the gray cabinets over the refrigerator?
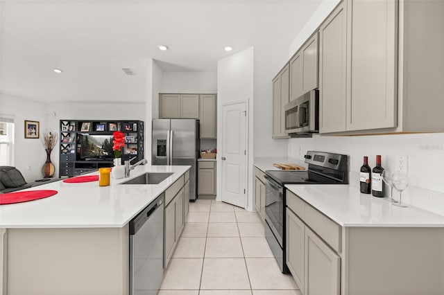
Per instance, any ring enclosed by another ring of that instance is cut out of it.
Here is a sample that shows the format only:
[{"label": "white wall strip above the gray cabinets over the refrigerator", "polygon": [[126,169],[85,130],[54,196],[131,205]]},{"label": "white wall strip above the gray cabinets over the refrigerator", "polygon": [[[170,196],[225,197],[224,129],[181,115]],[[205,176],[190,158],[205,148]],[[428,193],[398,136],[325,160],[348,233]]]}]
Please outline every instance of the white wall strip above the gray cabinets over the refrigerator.
[{"label": "white wall strip above the gray cabinets over the refrigerator", "polygon": [[163,72],[161,93],[216,93],[216,72]]}]

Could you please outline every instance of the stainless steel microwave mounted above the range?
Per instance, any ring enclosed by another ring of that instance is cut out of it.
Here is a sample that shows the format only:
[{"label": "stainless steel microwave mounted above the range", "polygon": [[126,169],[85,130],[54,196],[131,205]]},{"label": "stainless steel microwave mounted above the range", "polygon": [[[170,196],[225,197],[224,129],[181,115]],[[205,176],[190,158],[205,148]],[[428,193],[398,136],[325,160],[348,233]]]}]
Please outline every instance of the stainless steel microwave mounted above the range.
[{"label": "stainless steel microwave mounted above the range", "polygon": [[285,132],[293,136],[319,132],[319,91],[308,91],[284,106]]}]

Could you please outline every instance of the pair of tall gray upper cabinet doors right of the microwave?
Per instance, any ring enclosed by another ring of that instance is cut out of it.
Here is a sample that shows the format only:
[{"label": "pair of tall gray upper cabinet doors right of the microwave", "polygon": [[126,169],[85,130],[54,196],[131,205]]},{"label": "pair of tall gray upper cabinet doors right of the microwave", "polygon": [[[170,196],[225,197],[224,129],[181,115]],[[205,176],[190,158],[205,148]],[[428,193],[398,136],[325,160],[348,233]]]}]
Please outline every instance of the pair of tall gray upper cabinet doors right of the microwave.
[{"label": "pair of tall gray upper cabinet doors right of the microwave", "polygon": [[348,0],[321,24],[321,133],[396,127],[397,15],[396,1]]}]

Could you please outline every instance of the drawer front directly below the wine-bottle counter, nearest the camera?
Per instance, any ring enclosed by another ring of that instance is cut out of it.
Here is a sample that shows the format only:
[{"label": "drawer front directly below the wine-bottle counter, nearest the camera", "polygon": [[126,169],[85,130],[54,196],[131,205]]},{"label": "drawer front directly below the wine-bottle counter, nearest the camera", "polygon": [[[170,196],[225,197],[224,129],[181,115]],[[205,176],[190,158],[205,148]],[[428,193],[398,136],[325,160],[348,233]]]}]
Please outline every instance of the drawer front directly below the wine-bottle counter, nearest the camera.
[{"label": "drawer front directly below the wine-bottle counter, nearest the camera", "polygon": [[305,204],[305,223],[336,252],[341,252],[341,226],[327,216]]}]

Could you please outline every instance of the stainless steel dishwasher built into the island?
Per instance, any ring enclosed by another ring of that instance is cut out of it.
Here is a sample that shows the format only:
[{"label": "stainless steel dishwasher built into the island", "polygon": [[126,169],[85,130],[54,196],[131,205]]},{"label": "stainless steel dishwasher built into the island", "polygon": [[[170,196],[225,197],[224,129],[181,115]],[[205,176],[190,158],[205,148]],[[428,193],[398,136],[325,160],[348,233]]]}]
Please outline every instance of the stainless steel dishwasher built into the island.
[{"label": "stainless steel dishwasher built into the island", "polygon": [[162,283],[164,194],[130,221],[130,295],[155,295]]}]

